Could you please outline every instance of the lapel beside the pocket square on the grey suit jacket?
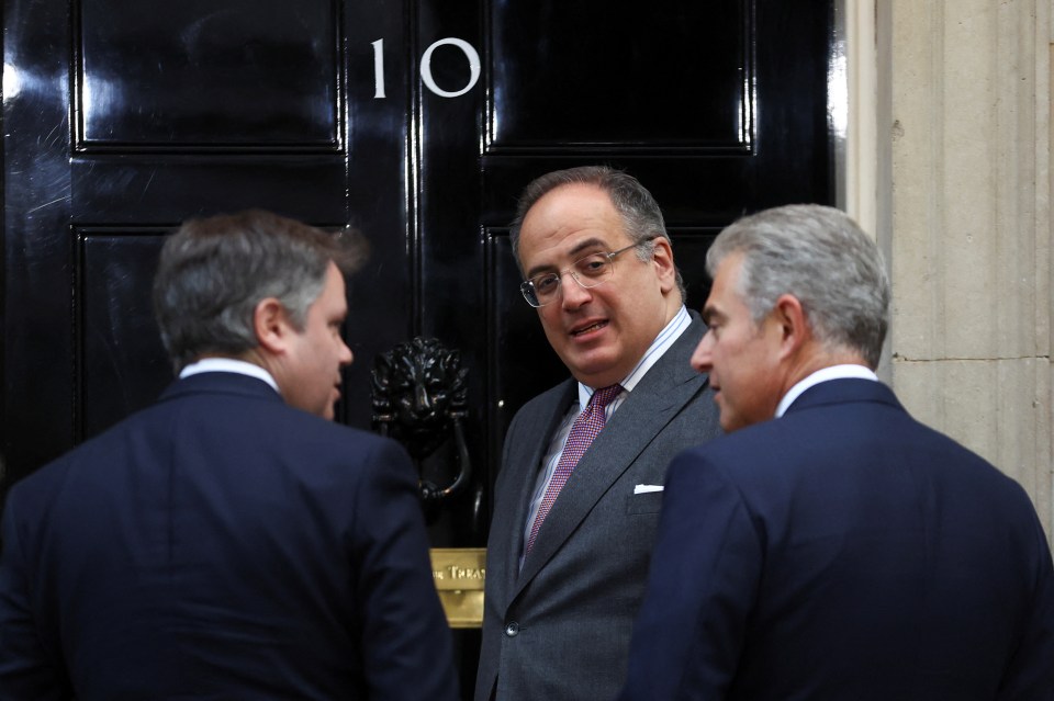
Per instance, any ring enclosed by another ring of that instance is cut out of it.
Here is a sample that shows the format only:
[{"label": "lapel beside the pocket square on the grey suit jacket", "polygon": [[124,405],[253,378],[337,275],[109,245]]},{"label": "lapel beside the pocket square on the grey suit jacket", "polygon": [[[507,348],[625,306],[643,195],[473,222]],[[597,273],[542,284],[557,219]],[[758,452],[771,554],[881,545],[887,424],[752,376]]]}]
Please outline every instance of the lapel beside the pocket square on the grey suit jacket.
[{"label": "lapel beside the pocket square on the grey suit jacket", "polygon": [[[514,596],[563,545],[662,428],[706,385],[706,375],[696,373],[689,364],[704,329],[696,318],[629,393],[579,461],[524,561]],[[551,436],[551,429],[546,436]],[[529,499],[530,494],[524,495],[524,501]],[[523,519],[526,519],[526,509],[520,523]],[[514,540],[520,543],[523,535]]]}]

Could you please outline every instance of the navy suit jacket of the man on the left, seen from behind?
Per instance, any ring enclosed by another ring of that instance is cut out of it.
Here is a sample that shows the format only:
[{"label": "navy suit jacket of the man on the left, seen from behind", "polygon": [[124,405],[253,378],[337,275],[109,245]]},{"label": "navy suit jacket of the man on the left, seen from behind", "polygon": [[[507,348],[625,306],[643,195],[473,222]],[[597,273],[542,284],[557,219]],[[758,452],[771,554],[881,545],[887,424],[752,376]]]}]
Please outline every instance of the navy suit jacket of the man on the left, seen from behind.
[{"label": "navy suit jacket of the man on the left, seen from behind", "polygon": [[457,698],[394,442],[205,373],[11,490],[0,698]]}]

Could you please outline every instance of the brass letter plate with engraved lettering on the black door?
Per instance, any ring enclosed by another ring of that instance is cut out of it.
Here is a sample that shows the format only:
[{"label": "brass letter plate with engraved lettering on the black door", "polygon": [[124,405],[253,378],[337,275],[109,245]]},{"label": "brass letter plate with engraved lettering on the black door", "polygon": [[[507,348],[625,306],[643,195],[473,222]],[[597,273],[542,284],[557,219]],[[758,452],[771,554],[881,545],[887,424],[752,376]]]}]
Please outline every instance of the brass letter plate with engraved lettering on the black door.
[{"label": "brass letter plate with engraved lettering on the black door", "polygon": [[450,627],[483,625],[485,547],[433,547],[431,578]]}]

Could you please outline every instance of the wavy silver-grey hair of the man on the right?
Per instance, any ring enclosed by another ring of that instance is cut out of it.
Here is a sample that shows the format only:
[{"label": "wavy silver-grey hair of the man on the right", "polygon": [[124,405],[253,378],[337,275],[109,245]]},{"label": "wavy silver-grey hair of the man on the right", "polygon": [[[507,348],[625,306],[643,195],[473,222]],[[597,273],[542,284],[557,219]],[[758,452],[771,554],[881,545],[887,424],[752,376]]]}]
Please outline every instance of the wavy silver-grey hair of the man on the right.
[{"label": "wavy silver-grey hair of the man on the right", "polygon": [[711,279],[733,253],[743,255],[736,291],[755,324],[781,295],[794,295],[821,343],[878,366],[889,326],[889,278],[878,247],[844,212],[796,204],[739,219],[707,251]]}]

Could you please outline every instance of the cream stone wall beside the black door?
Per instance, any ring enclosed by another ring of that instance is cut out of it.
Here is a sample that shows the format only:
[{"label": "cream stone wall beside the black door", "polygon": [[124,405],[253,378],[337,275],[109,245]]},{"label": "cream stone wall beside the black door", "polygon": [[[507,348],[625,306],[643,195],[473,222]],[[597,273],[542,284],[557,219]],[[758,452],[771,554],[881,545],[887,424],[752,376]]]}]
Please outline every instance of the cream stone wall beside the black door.
[{"label": "cream stone wall beside the black door", "polygon": [[1049,536],[1052,4],[840,4],[845,205],[893,279],[883,373],[916,417],[1020,482]]}]

